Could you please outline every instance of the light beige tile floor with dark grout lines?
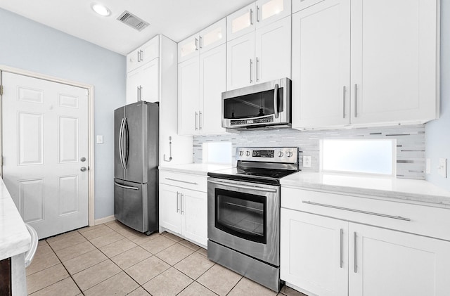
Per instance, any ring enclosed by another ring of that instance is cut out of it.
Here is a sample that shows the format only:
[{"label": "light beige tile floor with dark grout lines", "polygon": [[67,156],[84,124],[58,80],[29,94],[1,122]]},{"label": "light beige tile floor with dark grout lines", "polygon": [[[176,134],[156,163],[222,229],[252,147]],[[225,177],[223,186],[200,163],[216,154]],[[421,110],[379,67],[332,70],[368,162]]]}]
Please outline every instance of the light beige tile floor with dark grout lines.
[{"label": "light beige tile floor with dark grout lines", "polygon": [[[118,221],[40,240],[28,295],[277,295],[207,259],[172,233],[146,236]],[[279,296],[304,296],[283,287]]]}]

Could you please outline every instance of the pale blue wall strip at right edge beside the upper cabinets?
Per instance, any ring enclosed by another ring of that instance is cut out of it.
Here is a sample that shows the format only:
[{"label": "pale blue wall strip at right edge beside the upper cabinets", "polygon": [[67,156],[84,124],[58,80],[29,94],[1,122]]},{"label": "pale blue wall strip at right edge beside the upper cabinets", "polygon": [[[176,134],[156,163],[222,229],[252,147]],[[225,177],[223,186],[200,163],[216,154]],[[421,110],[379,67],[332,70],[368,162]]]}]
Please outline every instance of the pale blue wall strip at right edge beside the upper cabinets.
[{"label": "pale blue wall strip at right edge beside the upper cabinets", "polygon": [[427,180],[450,190],[450,176],[437,174],[439,157],[450,161],[450,1],[441,1],[441,117],[425,126],[426,157],[431,160],[431,174]]}]

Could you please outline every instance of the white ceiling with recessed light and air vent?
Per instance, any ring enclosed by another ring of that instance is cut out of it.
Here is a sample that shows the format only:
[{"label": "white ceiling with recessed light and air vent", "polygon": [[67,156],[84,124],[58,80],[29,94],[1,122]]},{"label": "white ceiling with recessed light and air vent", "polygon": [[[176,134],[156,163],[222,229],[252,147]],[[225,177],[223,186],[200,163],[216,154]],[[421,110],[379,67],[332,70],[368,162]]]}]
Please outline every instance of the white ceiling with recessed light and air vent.
[{"label": "white ceiling with recessed light and air vent", "polygon": [[[156,34],[179,42],[254,0],[0,0],[0,8],[127,55]],[[107,6],[102,17],[91,4]],[[117,17],[129,11],[150,23],[141,32]]]}]

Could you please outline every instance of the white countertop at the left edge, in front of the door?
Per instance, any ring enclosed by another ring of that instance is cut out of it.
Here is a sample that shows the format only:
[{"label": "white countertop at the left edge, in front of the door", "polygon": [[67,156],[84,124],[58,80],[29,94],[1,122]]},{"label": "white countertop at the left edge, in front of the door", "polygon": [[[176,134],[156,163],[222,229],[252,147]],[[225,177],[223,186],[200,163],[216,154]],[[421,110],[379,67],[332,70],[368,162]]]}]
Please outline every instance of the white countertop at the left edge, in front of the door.
[{"label": "white countertop at the left edge, in front of the door", "polygon": [[30,233],[0,178],[0,260],[27,252],[30,242]]}]

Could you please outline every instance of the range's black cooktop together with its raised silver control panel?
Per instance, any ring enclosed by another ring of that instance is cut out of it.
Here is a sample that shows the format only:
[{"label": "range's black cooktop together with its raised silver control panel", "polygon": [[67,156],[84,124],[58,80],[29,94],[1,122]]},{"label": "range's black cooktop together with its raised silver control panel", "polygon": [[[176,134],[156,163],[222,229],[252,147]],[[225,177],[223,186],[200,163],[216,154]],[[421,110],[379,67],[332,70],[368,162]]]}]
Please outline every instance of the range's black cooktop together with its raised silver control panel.
[{"label": "range's black cooktop together with its raised silver control panel", "polygon": [[237,166],[208,173],[219,179],[279,185],[283,176],[299,171],[298,148],[237,148]]}]

